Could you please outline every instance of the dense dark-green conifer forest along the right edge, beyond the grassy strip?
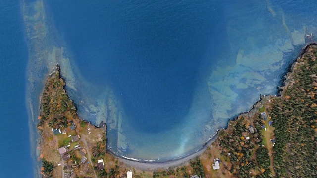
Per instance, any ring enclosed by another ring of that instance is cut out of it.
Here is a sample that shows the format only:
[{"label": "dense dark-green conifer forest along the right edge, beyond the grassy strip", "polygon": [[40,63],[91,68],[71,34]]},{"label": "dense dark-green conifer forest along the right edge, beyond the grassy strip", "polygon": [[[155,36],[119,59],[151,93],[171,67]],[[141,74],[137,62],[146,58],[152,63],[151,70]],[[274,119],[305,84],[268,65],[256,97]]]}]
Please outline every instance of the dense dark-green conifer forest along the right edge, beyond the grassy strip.
[{"label": "dense dark-green conifer forest along the right edge, beyond the grassy strip", "polygon": [[287,75],[282,97],[270,109],[278,178],[317,177],[317,46],[310,45]]}]

